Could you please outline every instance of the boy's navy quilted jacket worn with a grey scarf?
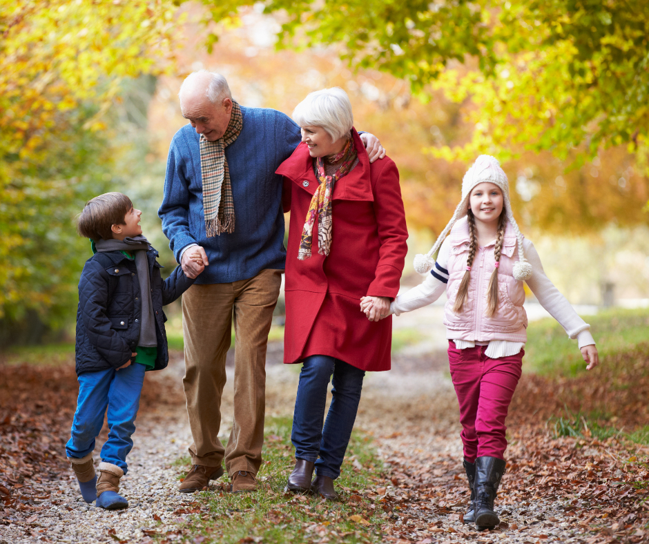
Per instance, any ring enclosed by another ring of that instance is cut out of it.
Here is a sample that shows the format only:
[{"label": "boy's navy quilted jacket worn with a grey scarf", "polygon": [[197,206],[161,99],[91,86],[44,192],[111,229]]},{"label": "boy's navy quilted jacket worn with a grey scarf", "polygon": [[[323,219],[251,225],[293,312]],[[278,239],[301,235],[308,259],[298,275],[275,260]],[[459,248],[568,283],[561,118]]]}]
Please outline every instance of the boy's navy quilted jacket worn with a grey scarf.
[{"label": "boy's navy quilted jacket worn with a grey scarf", "polygon": [[[155,315],[157,358],[153,370],[166,367],[169,360],[164,331],[164,304],[170,304],[194,280],[180,266],[162,281],[158,253],[149,246],[146,253],[151,275],[151,301]],[[79,280],[77,309],[77,376],[84,372],[119,368],[130,360],[139,340],[142,297],[135,260],[120,251],[96,253],[86,261]]]}]

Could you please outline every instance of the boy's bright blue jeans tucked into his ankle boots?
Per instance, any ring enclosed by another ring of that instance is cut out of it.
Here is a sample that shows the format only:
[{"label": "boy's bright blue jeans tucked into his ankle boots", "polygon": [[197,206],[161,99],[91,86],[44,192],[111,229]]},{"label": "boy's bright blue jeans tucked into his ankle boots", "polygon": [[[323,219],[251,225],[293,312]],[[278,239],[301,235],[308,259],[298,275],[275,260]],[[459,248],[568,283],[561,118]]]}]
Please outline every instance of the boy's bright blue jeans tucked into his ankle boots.
[{"label": "boy's bright blue jeans tucked into his ankle boots", "polygon": [[68,457],[81,458],[95,449],[108,407],[108,440],[101,448],[101,460],[117,465],[126,474],[145,369],[136,362],[122,370],[84,372],[77,378],[79,399],[72,436],[66,444]]}]

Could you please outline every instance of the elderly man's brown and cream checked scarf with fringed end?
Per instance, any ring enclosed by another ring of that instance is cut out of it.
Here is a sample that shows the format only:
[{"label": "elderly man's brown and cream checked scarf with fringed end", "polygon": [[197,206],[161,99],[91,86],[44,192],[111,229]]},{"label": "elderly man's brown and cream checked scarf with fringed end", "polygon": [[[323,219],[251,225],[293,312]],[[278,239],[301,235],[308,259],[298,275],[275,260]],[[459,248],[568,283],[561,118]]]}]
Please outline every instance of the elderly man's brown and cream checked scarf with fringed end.
[{"label": "elderly man's brown and cream checked scarf with fringed end", "polygon": [[239,104],[232,101],[232,117],[225,134],[216,142],[200,136],[200,171],[203,178],[205,231],[211,238],[234,232],[234,198],[225,148],[237,139],[243,128]]}]

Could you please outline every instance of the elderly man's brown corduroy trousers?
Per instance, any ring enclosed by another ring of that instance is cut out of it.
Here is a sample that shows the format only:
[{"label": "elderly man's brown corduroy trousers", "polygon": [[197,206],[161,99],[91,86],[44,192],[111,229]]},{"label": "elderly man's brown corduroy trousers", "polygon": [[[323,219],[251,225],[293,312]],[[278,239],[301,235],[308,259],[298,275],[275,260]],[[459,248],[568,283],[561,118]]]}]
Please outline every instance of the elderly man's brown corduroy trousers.
[{"label": "elderly man's brown corduroy trousers", "polygon": [[[228,474],[257,474],[262,463],[266,402],[266,347],[283,270],[262,270],[249,280],[191,286],[182,295],[185,376],[182,380],[194,443],[193,465]],[[235,330],[234,423],[221,444],[225,358]]]}]

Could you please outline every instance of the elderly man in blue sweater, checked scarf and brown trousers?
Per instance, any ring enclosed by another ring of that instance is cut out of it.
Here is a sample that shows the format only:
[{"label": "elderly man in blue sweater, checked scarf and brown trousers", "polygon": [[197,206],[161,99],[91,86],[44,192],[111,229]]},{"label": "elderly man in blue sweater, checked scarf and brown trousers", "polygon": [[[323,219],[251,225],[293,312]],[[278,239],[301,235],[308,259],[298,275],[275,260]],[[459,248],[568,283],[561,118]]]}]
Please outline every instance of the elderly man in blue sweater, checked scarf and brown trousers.
[{"label": "elderly man in blue sweater, checked scarf and brown trousers", "polygon": [[[250,491],[262,461],[266,348],[286,258],[275,170],[300,143],[300,128],[276,110],[240,106],[226,79],[205,70],[185,79],[179,97],[189,124],[171,142],[158,213],[182,269],[196,277],[196,259],[206,265],[182,298],[194,442],[180,491],[222,476],[223,458],[232,491]],[[376,137],[363,139],[372,160],[385,155]],[[233,316],[234,423],[224,448],[218,434]]]}]

